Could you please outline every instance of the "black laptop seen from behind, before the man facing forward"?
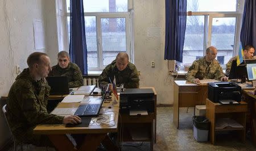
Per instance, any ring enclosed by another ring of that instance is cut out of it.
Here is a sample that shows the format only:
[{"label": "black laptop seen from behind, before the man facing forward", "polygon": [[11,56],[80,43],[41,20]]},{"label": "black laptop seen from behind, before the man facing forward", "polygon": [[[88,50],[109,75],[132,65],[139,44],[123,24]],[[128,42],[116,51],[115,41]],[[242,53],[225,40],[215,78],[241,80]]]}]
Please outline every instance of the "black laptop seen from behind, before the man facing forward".
[{"label": "black laptop seen from behind, before the man facing forward", "polygon": [[46,80],[51,87],[49,94],[69,94],[68,77],[49,76]]}]

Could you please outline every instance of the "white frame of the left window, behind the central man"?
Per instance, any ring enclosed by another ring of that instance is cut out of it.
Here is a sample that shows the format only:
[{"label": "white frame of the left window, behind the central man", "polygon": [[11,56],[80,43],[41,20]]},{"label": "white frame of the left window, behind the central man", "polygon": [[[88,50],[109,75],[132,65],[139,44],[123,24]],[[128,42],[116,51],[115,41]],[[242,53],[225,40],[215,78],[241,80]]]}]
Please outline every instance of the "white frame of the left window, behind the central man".
[{"label": "white frame of the left window, behind the central man", "polygon": [[[127,0],[127,12],[84,12],[84,16],[96,17],[96,39],[97,39],[97,58],[98,68],[89,68],[89,71],[102,71],[105,66],[103,65],[103,50],[102,50],[102,32],[101,32],[101,19],[102,18],[125,18],[126,27],[126,53],[130,56],[130,62],[134,63],[134,11],[130,9],[133,3]],[[67,7],[66,7],[67,8]],[[66,18],[70,17],[70,12],[66,11]],[[67,19],[66,19],[67,20]],[[68,24],[68,22],[66,23]],[[68,28],[68,27],[67,27]],[[67,30],[68,31],[68,30]],[[68,37],[67,37],[68,39]],[[68,40],[67,40],[68,41]],[[69,43],[69,41],[68,41]],[[69,45],[69,44],[68,44]]]}]

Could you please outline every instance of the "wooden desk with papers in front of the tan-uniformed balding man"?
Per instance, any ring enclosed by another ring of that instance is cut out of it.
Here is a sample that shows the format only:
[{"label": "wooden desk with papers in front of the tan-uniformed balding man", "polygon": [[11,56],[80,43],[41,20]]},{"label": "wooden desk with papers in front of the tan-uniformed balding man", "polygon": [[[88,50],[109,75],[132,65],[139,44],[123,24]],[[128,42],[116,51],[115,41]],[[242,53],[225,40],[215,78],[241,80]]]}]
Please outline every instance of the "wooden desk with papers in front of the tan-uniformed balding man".
[{"label": "wooden desk with papers in front of the tan-uniformed balding man", "polygon": [[208,85],[188,81],[174,81],[174,125],[179,128],[179,108],[204,105],[208,98]]}]

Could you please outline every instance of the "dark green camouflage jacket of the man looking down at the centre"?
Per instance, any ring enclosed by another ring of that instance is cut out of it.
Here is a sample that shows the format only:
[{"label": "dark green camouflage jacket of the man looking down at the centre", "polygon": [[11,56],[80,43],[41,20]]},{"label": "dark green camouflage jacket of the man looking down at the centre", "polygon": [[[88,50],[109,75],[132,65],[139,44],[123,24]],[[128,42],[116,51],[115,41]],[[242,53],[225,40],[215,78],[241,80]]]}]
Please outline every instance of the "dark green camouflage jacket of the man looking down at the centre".
[{"label": "dark green camouflage jacket of the man looking down at the centre", "polygon": [[117,86],[123,84],[125,88],[138,88],[139,87],[139,74],[134,64],[128,62],[127,67],[119,71],[115,65],[115,60],[106,66],[102,71],[100,77],[98,77],[98,83],[100,85],[107,85],[110,83],[109,78],[113,82],[115,77],[115,82]]}]

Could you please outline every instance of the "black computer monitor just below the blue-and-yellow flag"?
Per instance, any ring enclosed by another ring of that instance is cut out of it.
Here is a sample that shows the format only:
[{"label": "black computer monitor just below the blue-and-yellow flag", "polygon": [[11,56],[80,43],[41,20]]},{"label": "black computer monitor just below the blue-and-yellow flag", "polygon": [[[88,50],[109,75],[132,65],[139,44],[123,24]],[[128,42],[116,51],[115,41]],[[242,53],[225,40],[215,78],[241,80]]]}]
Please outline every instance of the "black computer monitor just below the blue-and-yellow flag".
[{"label": "black computer monitor just below the blue-and-yellow flag", "polygon": [[246,65],[242,63],[237,66],[237,60],[233,60],[230,69],[229,79],[242,79],[243,77],[247,77]]}]

